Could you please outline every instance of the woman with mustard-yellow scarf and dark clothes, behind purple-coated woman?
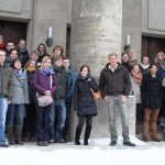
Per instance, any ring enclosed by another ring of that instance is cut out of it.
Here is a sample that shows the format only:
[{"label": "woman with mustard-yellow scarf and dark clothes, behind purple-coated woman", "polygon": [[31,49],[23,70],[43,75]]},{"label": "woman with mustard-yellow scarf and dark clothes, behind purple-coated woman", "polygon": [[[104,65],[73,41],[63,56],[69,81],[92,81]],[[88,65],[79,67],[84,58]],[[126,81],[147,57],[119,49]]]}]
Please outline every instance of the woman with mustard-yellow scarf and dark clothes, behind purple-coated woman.
[{"label": "woman with mustard-yellow scarf and dark clothes, behind purple-coated woman", "polygon": [[23,141],[34,142],[36,134],[36,109],[35,109],[35,89],[32,85],[33,76],[36,70],[36,62],[34,59],[29,59],[24,66],[28,76],[28,87],[29,87],[29,100],[30,103],[25,105],[25,118],[23,122]]}]

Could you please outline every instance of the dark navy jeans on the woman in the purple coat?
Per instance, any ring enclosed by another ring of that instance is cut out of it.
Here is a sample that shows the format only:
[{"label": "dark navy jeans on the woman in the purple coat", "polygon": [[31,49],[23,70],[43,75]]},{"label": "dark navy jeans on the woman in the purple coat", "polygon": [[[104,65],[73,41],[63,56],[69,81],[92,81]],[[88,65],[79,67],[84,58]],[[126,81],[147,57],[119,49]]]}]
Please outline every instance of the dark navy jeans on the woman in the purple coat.
[{"label": "dark navy jeans on the woman in the purple coat", "polygon": [[37,142],[48,141],[50,113],[52,105],[46,107],[36,106],[36,135]]}]

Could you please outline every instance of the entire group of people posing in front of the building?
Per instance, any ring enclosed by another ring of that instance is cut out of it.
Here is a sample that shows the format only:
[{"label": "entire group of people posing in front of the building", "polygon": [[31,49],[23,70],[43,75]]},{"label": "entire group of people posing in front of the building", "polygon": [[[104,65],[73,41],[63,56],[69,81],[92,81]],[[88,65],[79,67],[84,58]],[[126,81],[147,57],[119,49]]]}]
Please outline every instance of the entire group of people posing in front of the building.
[{"label": "entire group of people posing in front of the building", "polygon": [[[164,56],[161,58],[160,54],[156,56],[157,64],[150,65],[148,57],[144,56],[139,65],[133,50],[121,55],[121,64],[118,63],[117,54],[111,53],[97,85],[88,65],[80,67],[76,78],[75,72],[70,69],[69,58],[64,56],[61,45],[53,48],[53,55],[47,54],[43,43],[38,44],[37,51],[29,54],[25,40],[20,40],[15,46],[12,41],[4,44],[3,36],[0,35],[0,146],[23,145],[23,142],[35,140],[38,146],[66,143],[73,98],[78,116],[75,144],[80,145],[80,134],[86,121],[84,145],[88,145],[92,117],[97,116],[91,89],[94,92],[100,90],[107,102],[111,146],[118,140],[116,106],[121,113],[123,144],[135,146],[129,136],[127,101],[131,94],[136,97],[136,111],[144,110],[143,140],[148,141],[148,120],[152,112],[152,140],[158,142],[156,121],[165,85]],[[38,98],[45,96],[53,101],[42,106]],[[165,127],[165,118],[161,119]]]}]

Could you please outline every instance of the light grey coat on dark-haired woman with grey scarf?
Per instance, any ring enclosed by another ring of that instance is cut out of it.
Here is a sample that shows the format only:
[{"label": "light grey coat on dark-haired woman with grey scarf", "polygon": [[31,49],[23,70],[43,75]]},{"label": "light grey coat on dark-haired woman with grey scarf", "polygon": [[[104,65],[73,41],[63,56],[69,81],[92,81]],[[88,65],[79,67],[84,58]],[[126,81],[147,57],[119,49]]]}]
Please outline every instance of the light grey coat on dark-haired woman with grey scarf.
[{"label": "light grey coat on dark-haired woman with grey scarf", "polygon": [[21,76],[13,75],[13,97],[11,100],[12,105],[29,103],[29,89],[26,70],[23,69]]}]

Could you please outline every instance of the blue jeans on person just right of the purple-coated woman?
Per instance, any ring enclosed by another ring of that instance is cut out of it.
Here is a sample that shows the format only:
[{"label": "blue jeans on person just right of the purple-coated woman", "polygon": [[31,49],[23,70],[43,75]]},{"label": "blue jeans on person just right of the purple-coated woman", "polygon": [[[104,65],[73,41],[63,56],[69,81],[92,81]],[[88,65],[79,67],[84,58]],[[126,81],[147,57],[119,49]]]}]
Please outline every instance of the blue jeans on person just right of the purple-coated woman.
[{"label": "blue jeans on person just right of the purple-coated woman", "polygon": [[65,125],[66,107],[64,99],[54,100],[51,109],[50,140],[61,141]]}]

